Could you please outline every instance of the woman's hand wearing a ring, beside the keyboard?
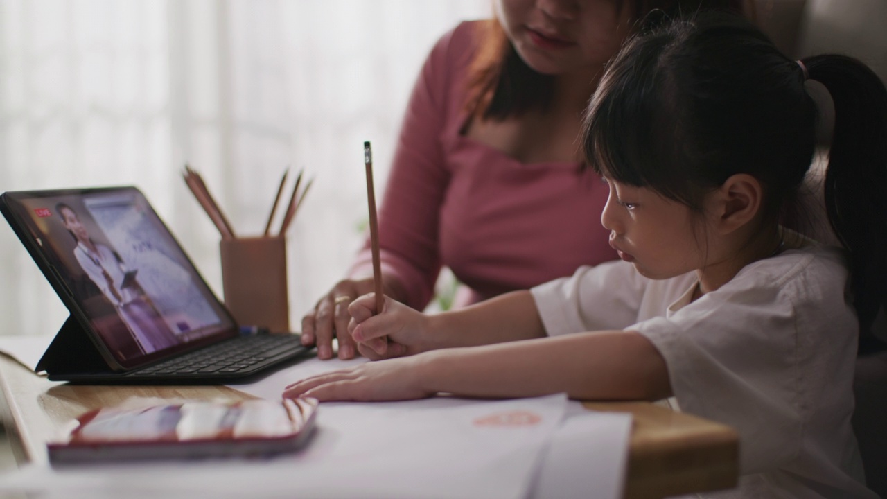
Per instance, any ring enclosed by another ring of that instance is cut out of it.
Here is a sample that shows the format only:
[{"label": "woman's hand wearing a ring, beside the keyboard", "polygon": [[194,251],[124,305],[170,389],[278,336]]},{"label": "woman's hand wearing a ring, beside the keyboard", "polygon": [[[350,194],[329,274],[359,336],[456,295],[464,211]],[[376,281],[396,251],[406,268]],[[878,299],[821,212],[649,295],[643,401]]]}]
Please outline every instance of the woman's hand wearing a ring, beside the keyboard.
[{"label": "woman's hand wearing a ring, beside the keyboard", "polygon": [[333,357],[333,338],[339,338],[339,358],[351,359],[355,344],[348,334],[348,306],[355,298],[373,290],[373,278],[339,281],[314,310],[302,317],[302,345],[316,345],[318,359]]}]

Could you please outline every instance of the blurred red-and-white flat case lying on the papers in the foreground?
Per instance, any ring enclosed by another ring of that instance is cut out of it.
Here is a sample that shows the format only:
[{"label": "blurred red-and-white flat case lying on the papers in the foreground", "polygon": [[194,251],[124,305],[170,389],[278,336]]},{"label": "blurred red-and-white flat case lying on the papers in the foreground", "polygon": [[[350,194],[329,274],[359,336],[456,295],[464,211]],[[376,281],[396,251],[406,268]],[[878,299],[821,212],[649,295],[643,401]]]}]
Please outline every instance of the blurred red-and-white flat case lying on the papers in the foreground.
[{"label": "blurred red-and-white flat case lying on the papers in the foreground", "polygon": [[297,398],[99,408],[46,447],[53,465],[276,455],[305,444],[317,407]]}]

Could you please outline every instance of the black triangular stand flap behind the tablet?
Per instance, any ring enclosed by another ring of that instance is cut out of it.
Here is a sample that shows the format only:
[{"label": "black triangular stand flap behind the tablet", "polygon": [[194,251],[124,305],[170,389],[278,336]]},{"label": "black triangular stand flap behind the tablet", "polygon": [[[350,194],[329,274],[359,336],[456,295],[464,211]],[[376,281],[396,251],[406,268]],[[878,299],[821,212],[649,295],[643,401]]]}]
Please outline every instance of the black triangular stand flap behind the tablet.
[{"label": "black triangular stand flap behind the tablet", "polygon": [[34,370],[46,371],[50,376],[112,372],[90,335],[70,315]]}]

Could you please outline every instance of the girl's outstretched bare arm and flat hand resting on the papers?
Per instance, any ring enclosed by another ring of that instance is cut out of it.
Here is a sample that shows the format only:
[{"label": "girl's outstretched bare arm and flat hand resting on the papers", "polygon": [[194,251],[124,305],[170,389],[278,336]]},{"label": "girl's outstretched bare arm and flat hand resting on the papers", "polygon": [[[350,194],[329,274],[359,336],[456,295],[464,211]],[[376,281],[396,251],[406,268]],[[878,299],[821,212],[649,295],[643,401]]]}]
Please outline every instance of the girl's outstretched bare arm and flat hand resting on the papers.
[{"label": "girl's outstretched bare arm and flat hand resting on the papers", "polygon": [[440,392],[580,400],[658,400],[671,395],[665,360],[632,331],[597,331],[367,363],[287,386],[285,397],[407,400]]}]

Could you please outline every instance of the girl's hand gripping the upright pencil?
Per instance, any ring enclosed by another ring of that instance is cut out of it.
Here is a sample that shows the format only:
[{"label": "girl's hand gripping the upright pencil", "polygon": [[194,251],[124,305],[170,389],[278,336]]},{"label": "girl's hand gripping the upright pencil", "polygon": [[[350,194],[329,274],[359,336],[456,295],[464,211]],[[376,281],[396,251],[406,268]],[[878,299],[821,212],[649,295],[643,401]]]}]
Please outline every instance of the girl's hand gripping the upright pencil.
[{"label": "girl's hand gripping the upright pencil", "polygon": [[375,293],[359,297],[348,307],[348,328],[357,350],[370,360],[402,357],[428,350],[428,317],[384,297],[376,313]]}]

